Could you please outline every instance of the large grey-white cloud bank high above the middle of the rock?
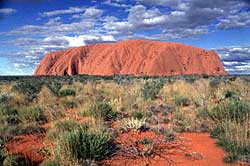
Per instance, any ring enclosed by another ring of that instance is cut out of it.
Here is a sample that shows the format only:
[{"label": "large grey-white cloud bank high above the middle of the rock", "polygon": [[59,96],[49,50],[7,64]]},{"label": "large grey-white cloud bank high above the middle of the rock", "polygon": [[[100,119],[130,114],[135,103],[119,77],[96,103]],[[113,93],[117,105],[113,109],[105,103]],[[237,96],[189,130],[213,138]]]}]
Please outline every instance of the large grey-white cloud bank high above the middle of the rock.
[{"label": "large grey-white cloud bank high above the middle of the rock", "polygon": [[[205,11],[212,12],[209,9]],[[157,34],[151,34],[145,38],[158,40],[173,40],[208,33],[208,26],[205,23],[202,21],[195,23],[187,17],[184,11],[163,13],[157,8],[148,9],[144,5],[136,5],[130,8],[125,21],[120,21],[116,17],[106,17],[104,28],[110,34],[133,34],[133,36],[138,36],[137,31],[157,29]]]}]

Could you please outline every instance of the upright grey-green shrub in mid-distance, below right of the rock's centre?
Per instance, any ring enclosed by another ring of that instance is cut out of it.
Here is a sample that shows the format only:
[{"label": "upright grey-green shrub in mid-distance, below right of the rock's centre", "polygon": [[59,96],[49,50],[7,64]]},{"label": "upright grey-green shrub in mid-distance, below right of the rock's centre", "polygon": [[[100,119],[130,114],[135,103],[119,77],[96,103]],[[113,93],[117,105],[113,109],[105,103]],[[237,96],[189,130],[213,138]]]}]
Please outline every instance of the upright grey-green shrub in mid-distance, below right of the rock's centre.
[{"label": "upright grey-green shrub in mid-distance, below right of the rock's centre", "polygon": [[164,83],[162,80],[148,81],[142,88],[142,94],[144,99],[156,99]]}]

